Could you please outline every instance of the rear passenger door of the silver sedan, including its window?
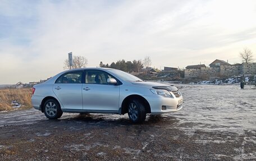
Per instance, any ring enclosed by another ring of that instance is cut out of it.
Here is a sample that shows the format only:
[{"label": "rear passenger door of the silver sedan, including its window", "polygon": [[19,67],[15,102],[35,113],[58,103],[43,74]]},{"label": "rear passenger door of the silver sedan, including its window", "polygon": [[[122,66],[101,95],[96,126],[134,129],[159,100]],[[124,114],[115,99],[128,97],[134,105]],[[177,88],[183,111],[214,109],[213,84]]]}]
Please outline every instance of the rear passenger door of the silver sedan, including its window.
[{"label": "rear passenger door of the silver sedan, including its window", "polygon": [[53,92],[60,100],[62,108],[83,109],[82,80],[83,71],[67,72],[58,77],[53,85]]}]

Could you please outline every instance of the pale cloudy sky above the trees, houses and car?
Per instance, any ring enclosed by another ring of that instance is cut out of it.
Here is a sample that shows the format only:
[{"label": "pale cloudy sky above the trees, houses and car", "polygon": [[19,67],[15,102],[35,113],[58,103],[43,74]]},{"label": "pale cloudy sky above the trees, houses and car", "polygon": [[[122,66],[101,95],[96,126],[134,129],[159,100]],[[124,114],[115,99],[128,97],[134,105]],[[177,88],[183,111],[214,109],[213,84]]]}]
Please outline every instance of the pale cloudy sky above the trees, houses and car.
[{"label": "pale cloudy sky above the trees, houses and car", "polygon": [[88,67],[152,59],[186,67],[256,58],[256,1],[0,0],[0,84],[39,81],[63,71],[67,53]]}]

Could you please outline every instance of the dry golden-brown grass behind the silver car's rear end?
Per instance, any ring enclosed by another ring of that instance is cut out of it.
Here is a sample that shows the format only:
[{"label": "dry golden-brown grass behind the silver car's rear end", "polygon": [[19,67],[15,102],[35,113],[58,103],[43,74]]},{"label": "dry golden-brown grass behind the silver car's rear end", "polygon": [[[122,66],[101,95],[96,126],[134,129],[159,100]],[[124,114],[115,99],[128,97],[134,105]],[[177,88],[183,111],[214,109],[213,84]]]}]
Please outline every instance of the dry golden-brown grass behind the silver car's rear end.
[{"label": "dry golden-brown grass behind the silver car's rear end", "polygon": [[[31,88],[0,89],[0,111],[13,110],[11,102],[17,100],[22,104],[21,108],[31,108]],[[19,108],[19,109],[21,109]]]}]

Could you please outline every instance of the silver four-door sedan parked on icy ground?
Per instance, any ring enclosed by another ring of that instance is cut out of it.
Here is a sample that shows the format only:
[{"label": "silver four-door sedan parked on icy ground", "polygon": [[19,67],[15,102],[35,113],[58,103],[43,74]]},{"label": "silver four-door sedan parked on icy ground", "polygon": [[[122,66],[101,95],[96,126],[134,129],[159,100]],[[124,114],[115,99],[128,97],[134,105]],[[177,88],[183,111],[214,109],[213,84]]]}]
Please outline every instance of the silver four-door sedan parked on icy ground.
[{"label": "silver four-door sedan parked on icy ground", "polygon": [[80,68],[35,85],[31,102],[49,119],[63,112],[128,113],[132,122],[140,123],[147,113],[179,111],[183,99],[172,85],[145,82],[112,68]]}]

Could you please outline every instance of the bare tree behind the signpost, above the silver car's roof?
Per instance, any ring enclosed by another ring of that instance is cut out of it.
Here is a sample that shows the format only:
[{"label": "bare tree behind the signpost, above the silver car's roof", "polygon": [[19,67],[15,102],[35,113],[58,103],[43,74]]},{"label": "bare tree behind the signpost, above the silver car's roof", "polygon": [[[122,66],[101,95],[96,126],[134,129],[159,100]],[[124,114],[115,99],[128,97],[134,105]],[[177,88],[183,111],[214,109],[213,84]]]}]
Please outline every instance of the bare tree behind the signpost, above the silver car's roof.
[{"label": "bare tree behind the signpost, above the silver car's roof", "polygon": [[[72,67],[71,68],[84,68],[86,67],[88,63],[88,60],[84,57],[84,56],[74,56],[73,57],[73,63],[72,63]],[[68,59],[66,59],[64,61],[64,69],[69,69],[70,65],[68,62]]]}]

